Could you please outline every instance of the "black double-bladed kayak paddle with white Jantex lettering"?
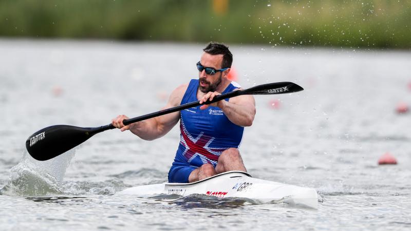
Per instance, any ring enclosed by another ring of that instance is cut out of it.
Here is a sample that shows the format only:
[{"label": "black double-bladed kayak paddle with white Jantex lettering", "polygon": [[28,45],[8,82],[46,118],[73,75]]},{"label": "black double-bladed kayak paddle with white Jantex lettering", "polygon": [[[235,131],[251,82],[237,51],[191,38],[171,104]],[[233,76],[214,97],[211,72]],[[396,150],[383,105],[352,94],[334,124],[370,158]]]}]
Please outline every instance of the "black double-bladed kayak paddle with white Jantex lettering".
[{"label": "black double-bladed kayak paddle with white Jantex lettering", "polygon": [[[212,104],[220,100],[236,97],[245,94],[284,94],[304,90],[302,87],[291,82],[279,82],[258,85],[244,90],[231,91],[214,97],[212,101],[203,102],[202,104]],[[201,105],[200,101],[186,103],[177,107],[167,108],[161,111],[153,112],[140,117],[123,120],[124,125],[132,124],[138,121],[158,117],[160,115],[181,111],[190,107]],[[54,125],[43,128],[33,133],[26,141],[26,148],[30,155],[40,161],[49,160],[61,155],[62,153],[78,146],[84,141],[97,133],[115,128],[112,124],[101,127],[84,128],[70,125]]]}]

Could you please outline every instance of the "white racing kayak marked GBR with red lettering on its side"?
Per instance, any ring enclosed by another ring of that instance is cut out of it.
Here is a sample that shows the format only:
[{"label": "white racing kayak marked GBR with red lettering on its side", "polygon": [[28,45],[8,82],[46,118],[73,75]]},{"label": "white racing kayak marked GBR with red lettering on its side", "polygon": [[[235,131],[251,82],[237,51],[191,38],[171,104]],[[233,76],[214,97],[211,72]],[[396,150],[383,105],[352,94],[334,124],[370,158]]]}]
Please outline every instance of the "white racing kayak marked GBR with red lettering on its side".
[{"label": "white racing kayak marked GBR with red lettering on its side", "polygon": [[227,171],[193,183],[141,185],[127,188],[118,195],[202,194],[218,198],[248,198],[261,203],[287,203],[317,208],[317,192],[313,188],[260,180],[244,171]]}]

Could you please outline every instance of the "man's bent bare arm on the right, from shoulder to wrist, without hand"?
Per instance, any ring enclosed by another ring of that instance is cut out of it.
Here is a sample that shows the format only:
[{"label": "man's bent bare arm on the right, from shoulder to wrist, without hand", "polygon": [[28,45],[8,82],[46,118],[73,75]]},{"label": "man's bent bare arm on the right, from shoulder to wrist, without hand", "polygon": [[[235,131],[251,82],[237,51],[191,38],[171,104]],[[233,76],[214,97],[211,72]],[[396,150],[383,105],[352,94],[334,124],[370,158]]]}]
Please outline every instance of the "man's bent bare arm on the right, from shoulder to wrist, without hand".
[{"label": "man's bent bare arm on the right, from shoulder to wrist, without hand", "polygon": [[227,118],[238,126],[248,127],[253,124],[255,115],[253,105],[233,104],[223,100],[220,108],[227,115]]}]

